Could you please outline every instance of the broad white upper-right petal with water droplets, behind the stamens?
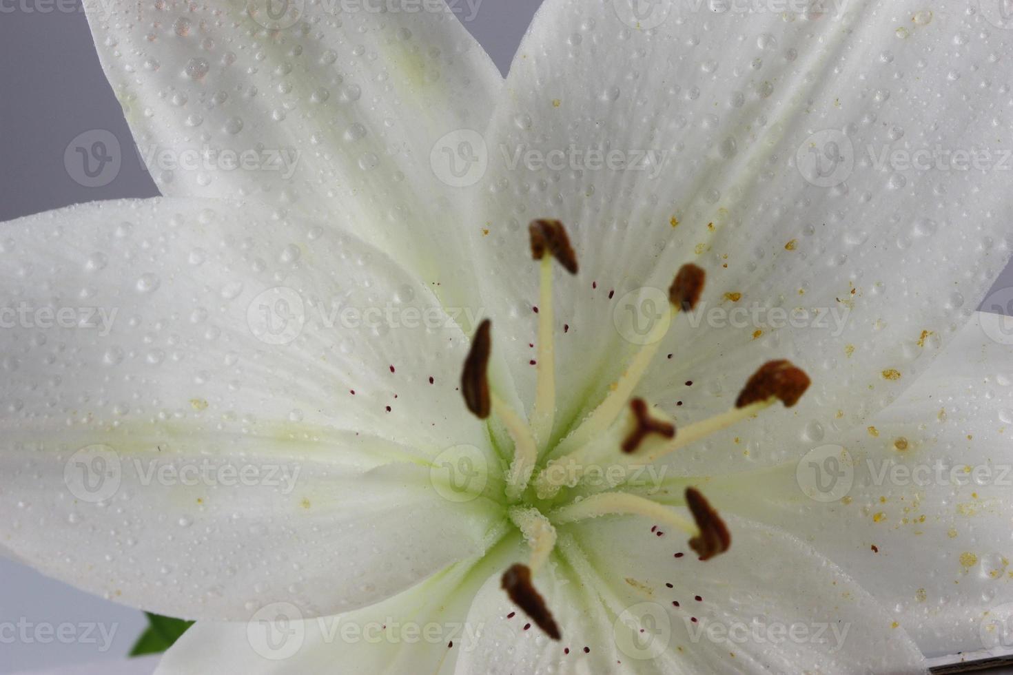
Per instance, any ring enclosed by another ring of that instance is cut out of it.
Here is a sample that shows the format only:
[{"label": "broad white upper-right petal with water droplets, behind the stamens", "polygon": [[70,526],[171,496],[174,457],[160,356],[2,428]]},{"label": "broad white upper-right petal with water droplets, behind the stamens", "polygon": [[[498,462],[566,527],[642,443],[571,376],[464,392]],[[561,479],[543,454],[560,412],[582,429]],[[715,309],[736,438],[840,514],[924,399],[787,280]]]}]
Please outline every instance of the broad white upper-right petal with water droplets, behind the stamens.
[{"label": "broad white upper-right petal with water droplets, behind the stamens", "polygon": [[[692,413],[681,418],[692,421],[729,407],[765,360],[798,360],[815,384],[797,417],[748,438],[760,445],[754,458],[773,460],[796,449],[806,424],[829,430],[838,409],[853,422],[890,401],[1002,269],[1006,33],[958,2],[835,3],[805,15],[753,9],[763,3],[718,3],[734,7],[724,12],[635,3],[669,12],[637,25],[617,11],[628,2],[549,0],[521,47],[492,122],[489,194],[476,219],[491,231],[475,237],[489,270],[486,307],[500,325],[512,322],[510,361],[533,391],[538,275],[526,226],[562,220],[581,265],[576,277],[560,273],[557,292],[558,323],[569,324],[557,350],[565,424],[601,399],[664,312],[678,267],[696,261],[708,271],[706,309],[717,308],[725,327],[702,316],[694,329],[678,317],[642,393],[670,412],[686,398]],[[797,152],[805,160],[813,144],[827,151],[835,140],[853,148],[853,170],[832,187],[809,182]],[[993,170],[893,172],[868,155],[937,145],[993,151]],[[526,164],[527,151],[548,158],[571,148],[668,155],[645,171],[588,159],[576,170]],[[641,286],[657,289],[653,304],[628,302]],[[736,292],[737,303],[724,299]],[[727,310],[754,306],[801,307],[809,319],[774,331],[786,321],[764,315],[754,325],[747,315],[728,327]],[[843,331],[833,321],[812,326],[817,312],[844,310]],[[631,314],[643,332],[617,329]],[[935,335],[925,349],[923,330]],[[900,381],[884,379],[890,368]]]}]

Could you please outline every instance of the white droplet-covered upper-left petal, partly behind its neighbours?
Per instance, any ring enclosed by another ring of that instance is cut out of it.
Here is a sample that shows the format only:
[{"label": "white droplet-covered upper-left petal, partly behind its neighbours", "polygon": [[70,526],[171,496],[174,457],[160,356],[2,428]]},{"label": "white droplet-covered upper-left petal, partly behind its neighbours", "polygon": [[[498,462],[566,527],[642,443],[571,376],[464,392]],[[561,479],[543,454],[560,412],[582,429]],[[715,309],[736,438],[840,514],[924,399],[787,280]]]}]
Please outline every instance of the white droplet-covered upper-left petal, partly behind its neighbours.
[{"label": "white droplet-covered upper-left petal, partly behind its neighbours", "polygon": [[386,6],[112,0],[88,18],[163,194],[350,213],[367,241],[453,279],[434,256],[463,219],[431,154],[484,129],[502,79],[443,2]]}]

